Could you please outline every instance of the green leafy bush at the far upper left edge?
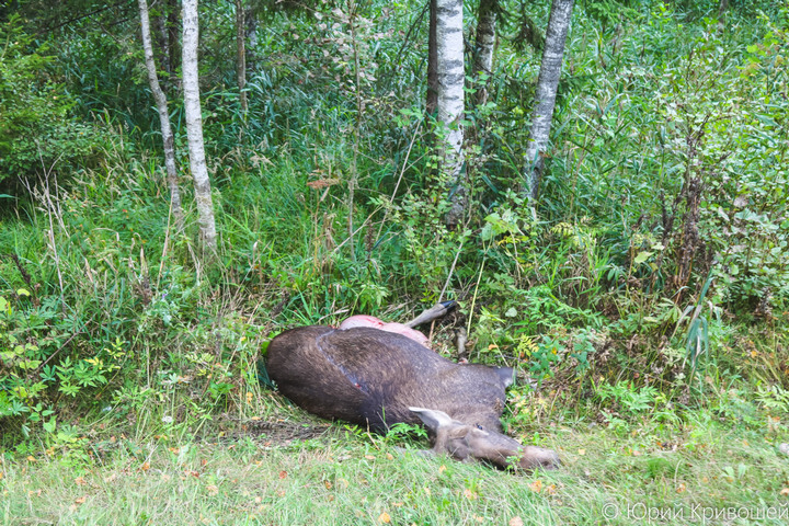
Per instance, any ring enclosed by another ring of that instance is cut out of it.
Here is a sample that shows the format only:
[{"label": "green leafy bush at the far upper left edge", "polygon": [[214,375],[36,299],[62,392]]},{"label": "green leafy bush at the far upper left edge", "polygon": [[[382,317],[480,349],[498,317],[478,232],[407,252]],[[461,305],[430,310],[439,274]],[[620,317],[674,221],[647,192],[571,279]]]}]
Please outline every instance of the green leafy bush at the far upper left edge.
[{"label": "green leafy bush at the far upper left edge", "polygon": [[94,163],[102,136],[72,115],[48,45],[36,45],[11,15],[0,24],[0,187],[54,167]]}]

